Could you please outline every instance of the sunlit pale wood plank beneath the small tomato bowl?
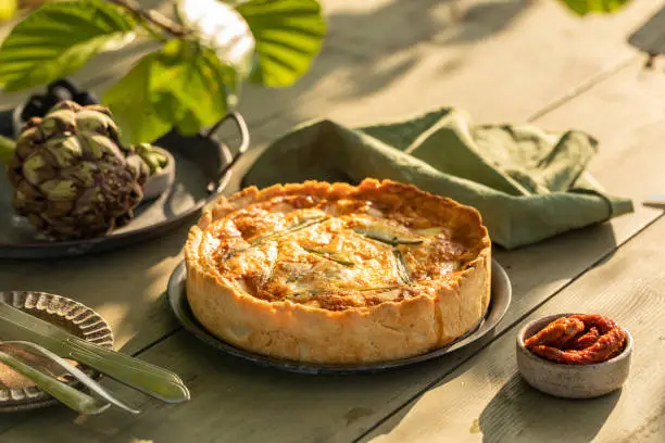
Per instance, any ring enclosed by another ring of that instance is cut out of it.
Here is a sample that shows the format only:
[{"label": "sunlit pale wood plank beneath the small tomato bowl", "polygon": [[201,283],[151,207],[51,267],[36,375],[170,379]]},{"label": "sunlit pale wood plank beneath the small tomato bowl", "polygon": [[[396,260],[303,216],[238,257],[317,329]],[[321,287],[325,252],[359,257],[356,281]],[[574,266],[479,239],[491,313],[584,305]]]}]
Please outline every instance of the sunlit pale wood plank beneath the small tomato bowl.
[{"label": "sunlit pale wood plank beneath the small tomato bowl", "polygon": [[[662,218],[363,440],[665,441],[663,238]],[[566,401],[541,394],[522,379],[515,360],[520,326],[564,312],[602,313],[630,331],[631,372],[622,391]]]}]

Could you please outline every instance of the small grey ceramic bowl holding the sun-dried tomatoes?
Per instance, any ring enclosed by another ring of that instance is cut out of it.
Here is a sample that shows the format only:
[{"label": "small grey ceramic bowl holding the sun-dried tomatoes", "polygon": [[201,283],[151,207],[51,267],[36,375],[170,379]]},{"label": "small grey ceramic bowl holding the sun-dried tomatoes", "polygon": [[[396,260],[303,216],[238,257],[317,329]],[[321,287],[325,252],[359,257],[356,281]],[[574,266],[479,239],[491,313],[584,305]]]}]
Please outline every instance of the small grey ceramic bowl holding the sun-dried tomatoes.
[{"label": "small grey ceramic bowl holding the sun-dried tomatoes", "polygon": [[632,337],[626,330],[624,351],[612,359],[590,365],[565,365],[550,362],[524,346],[524,341],[560,317],[556,314],[528,322],[517,334],[517,368],[531,387],[565,398],[593,398],[620,389],[630,368]]}]

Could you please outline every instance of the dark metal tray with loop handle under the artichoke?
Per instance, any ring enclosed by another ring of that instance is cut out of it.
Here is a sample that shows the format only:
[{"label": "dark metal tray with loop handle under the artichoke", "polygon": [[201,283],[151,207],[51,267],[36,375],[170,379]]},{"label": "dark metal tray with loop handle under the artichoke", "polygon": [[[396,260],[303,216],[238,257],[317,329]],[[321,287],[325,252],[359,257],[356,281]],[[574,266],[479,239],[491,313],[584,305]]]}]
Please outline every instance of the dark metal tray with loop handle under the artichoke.
[{"label": "dark metal tray with loop handle under the artichoke", "polygon": [[[235,154],[221,139],[226,122],[235,122],[239,132]],[[158,237],[193,217],[227,186],[231,168],[249,147],[249,131],[242,116],[230,113],[205,132],[183,137],[176,131],[153,144],[171,152],[176,160],[173,186],[156,200],[141,203],[126,226],[98,238],[74,241],[38,240],[27,219],[14,214],[13,188],[0,174],[0,258],[54,258],[98,253],[136,244]]]}]

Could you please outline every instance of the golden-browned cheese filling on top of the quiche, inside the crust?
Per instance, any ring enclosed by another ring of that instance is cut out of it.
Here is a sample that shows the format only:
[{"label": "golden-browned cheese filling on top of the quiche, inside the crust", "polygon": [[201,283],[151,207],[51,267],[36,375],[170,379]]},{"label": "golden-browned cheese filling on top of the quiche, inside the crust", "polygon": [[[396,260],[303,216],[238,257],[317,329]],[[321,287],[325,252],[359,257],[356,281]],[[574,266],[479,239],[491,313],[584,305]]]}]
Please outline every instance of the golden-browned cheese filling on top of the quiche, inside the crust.
[{"label": "golden-browned cheese filling on top of the quiche, inside the crust", "polygon": [[255,298],[341,311],[452,281],[485,246],[454,214],[391,193],[279,195],[214,220],[202,248]]}]

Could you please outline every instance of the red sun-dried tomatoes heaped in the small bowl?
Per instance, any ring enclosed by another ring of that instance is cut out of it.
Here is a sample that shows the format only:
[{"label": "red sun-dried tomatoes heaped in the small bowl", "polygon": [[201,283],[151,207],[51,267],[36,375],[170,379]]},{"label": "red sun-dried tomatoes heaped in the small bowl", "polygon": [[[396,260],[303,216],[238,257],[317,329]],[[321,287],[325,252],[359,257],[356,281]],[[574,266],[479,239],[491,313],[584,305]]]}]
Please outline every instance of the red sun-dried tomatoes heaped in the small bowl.
[{"label": "red sun-dried tomatoes heaped in the small bowl", "polygon": [[608,360],[618,355],[625,344],[624,328],[598,314],[560,317],[524,342],[534,354],[567,365]]}]

